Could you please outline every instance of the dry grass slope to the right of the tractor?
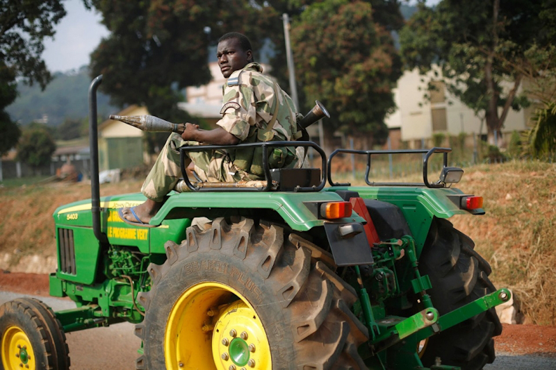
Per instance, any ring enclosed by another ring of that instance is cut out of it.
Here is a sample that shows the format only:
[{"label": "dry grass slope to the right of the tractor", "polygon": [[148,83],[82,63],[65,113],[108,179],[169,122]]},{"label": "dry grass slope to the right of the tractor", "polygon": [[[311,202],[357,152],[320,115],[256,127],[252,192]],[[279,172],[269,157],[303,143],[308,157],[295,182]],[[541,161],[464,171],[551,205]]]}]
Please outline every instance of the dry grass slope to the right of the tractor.
[{"label": "dry grass slope to the right of the tractor", "polygon": [[466,171],[459,188],[484,197],[486,215],[452,219],[509,287],[525,318],[555,325],[556,165],[508,162]]}]

